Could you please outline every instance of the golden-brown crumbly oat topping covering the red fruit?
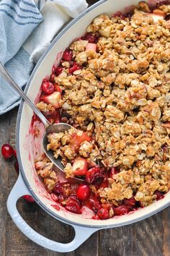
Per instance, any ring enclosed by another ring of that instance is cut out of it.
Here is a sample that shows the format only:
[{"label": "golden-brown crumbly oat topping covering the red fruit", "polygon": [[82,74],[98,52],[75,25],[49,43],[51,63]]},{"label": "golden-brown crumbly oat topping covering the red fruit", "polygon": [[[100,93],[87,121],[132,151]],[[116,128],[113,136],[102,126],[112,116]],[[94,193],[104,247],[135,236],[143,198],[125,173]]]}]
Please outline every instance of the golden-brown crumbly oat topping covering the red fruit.
[{"label": "golden-brown crumbly oat topping covering the red fruit", "polygon": [[[97,35],[97,51],[87,48],[88,40],[76,40],[70,49],[81,69],[70,74],[69,61],[64,61],[61,74],[55,76],[64,90],[61,107],[76,132],[83,130],[95,138],[82,142],[75,152],[69,145],[73,128],[49,135],[48,149],[56,158],[62,156],[67,176],[73,176],[71,164],[77,156],[102,161],[108,170],[118,168],[108,187],[97,191],[104,202],[119,205],[134,196],[146,206],[156,200],[157,190],[169,191],[170,21],[165,19],[169,14],[170,5],[151,13],[142,1],[132,17],[96,17],[87,32]],[[37,106],[51,109],[42,102]],[[40,176],[46,182],[50,179],[48,186],[53,187],[56,178],[50,177],[50,163],[45,165]]]}]

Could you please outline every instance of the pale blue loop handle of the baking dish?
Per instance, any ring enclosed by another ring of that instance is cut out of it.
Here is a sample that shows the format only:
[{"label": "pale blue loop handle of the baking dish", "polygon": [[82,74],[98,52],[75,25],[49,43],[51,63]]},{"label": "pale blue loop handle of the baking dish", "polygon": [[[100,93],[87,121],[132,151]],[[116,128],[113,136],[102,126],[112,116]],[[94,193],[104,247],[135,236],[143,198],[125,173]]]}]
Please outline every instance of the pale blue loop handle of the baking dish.
[{"label": "pale blue loop handle of the baking dish", "polygon": [[85,242],[86,239],[88,239],[89,236],[91,236],[91,234],[99,230],[90,227],[77,226],[71,224],[71,226],[73,226],[73,229],[75,230],[75,236],[71,242],[69,242],[68,244],[63,244],[50,240],[45,236],[42,236],[41,234],[37,233],[24,221],[22,216],[20,216],[17,210],[17,200],[19,199],[19,197],[22,197],[23,195],[31,194],[27,189],[26,185],[24,184],[21,174],[19,174],[19,178],[17,179],[17,182],[14,184],[14,187],[9,194],[7,200],[7,209],[9,211],[10,216],[12,217],[12,220],[20,229],[20,231],[22,231],[22,233],[28,238],[30,238],[33,242],[39,244],[42,247],[45,247],[46,249],[51,249],[55,252],[71,252],[74,249],[78,248],[83,242]]}]

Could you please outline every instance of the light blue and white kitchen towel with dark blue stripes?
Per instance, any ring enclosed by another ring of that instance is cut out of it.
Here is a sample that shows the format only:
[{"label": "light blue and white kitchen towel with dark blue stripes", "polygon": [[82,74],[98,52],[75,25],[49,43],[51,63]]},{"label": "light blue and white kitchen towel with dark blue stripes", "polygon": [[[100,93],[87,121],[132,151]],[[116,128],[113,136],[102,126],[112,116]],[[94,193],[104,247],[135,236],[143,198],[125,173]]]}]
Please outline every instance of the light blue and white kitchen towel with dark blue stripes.
[{"label": "light blue and white kitchen towel with dark blue stripes", "polygon": [[[85,0],[0,1],[0,61],[20,87],[26,85],[58,30],[86,7]],[[0,77],[0,114],[19,101],[19,95]]]}]

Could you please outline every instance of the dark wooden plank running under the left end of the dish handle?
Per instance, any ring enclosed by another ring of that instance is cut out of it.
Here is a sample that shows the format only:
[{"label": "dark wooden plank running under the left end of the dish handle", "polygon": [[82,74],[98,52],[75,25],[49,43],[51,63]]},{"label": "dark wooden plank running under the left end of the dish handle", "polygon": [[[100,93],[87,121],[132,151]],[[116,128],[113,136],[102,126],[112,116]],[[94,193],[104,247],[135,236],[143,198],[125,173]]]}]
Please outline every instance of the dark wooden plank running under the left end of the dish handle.
[{"label": "dark wooden plank running under the left end of the dish handle", "polygon": [[[15,144],[15,124],[17,119],[17,109],[9,112],[10,114],[10,132],[9,132],[9,143],[14,146]],[[14,170],[14,161],[9,163],[9,180],[8,187],[6,187],[7,193],[11,191],[14,183],[17,180],[17,173]],[[4,205],[6,208],[6,205]],[[23,199],[19,200],[18,209],[22,217],[32,225],[32,222],[35,221],[35,209],[36,206],[27,204]],[[6,218],[6,252],[5,255],[34,255],[36,245],[27,239],[22,232],[17,229],[17,226],[14,225],[9,214]],[[36,253],[35,253],[36,255]]]}]

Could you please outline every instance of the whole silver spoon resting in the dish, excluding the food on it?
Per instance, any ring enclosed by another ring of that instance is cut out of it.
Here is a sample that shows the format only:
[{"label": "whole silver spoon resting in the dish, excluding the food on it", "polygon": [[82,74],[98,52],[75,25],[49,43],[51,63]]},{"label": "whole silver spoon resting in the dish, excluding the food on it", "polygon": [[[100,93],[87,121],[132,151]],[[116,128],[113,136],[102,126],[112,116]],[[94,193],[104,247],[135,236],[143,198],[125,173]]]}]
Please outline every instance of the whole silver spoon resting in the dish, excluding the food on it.
[{"label": "whole silver spoon resting in the dish, excluding the food on it", "polygon": [[[70,124],[64,124],[64,123],[50,124],[50,122],[47,119],[45,119],[45,116],[43,116],[42,113],[32,103],[32,101],[30,101],[30,99],[27,98],[27,95],[23,92],[23,90],[21,88],[19,88],[19,86],[16,84],[16,82],[14,82],[14,80],[9,75],[9,73],[7,72],[5,67],[1,64],[1,62],[0,62],[0,74],[1,74],[1,77],[3,77],[4,80],[6,80],[6,82],[8,82],[9,85],[11,85],[12,88],[14,88],[14,90],[17,91],[17,93],[19,93],[19,95],[24,99],[24,101],[30,106],[30,108],[32,108],[32,110],[35,112],[35,114],[40,118],[40,120],[42,121],[42,124],[44,124],[45,133],[44,133],[43,138],[42,138],[43,150],[45,151],[45,154],[48,156],[48,158],[50,158],[50,161],[52,161],[60,171],[64,172],[63,164],[61,163],[60,158],[56,159],[53,155],[53,151],[52,150],[47,150],[47,145],[48,145],[47,136],[51,132],[56,132],[56,133],[65,132],[68,129],[71,129],[71,125]],[[79,178],[76,178],[76,177],[74,177],[74,179],[78,179],[78,180],[81,180],[81,181],[83,180],[83,179],[79,179]]]}]

